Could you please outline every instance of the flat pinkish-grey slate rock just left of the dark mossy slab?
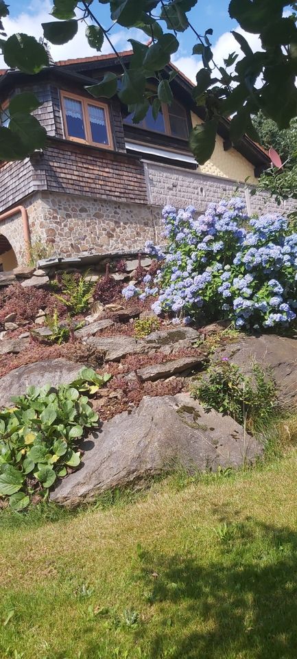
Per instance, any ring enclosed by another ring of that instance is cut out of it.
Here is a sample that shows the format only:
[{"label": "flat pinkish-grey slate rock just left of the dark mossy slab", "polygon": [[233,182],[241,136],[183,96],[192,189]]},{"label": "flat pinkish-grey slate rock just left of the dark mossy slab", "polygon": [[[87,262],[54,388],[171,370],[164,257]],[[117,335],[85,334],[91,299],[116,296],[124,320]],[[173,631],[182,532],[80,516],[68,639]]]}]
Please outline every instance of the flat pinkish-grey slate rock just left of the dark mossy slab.
[{"label": "flat pinkish-grey slate rock just left of the dark mossy slab", "polygon": [[139,354],[147,350],[147,345],[132,336],[115,334],[115,336],[89,336],[86,343],[95,346],[105,354],[108,362],[118,362],[126,355]]}]

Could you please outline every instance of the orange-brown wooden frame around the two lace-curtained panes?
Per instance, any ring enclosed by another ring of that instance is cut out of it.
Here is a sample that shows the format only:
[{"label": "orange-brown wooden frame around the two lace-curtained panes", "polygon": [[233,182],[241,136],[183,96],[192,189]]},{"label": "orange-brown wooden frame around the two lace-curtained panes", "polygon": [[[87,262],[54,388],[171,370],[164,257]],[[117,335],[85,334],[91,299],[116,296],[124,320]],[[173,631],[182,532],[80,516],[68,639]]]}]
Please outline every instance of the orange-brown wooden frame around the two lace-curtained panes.
[{"label": "orange-brown wooden frame around the two lace-curtained panes", "polygon": [[[67,129],[67,117],[64,107],[65,98],[73,98],[73,100],[79,101],[82,104],[82,120],[84,122],[84,132],[86,134],[86,139],[82,139],[81,137],[73,137],[73,135],[69,135]],[[100,101],[95,101],[95,100],[93,101],[93,99],[91,98],[86,98],[84,96],[79,96],[78,94],[73,94],[70,91],[68,92],[62,90],[60,90],[60,102],[61,102],[61,110],[62,110],[62,118],[63,118],[63,126],[64,126],[64,135],[66,139],[69,139],[72,142],[80,142],[81,144],[88,144],[89,146],[97,146],[102,149],[113,150],[109,106],[106,103],[101,103]],[[103,144],[102,142],[93,141],[92,132],[91,132],[91,122],[88,117],[88,105],[94,105],[97,108],[102,108],[104,110],[108,144]]]}]

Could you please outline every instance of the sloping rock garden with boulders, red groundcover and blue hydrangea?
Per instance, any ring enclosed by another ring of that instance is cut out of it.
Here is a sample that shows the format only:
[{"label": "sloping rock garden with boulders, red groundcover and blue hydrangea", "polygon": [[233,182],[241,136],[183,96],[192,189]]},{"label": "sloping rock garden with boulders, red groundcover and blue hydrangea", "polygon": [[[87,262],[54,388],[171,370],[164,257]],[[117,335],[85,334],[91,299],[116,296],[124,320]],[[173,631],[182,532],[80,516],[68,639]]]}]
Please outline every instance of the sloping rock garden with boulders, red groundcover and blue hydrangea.
[{"label": "sloping rock garden with boulders, red groundcover and blue hydrangea", "polygon": [[287,220],[237,198],[163,217],[166,248],[137,259],[0,275],[0,507],[248,466],[294,410]]}]

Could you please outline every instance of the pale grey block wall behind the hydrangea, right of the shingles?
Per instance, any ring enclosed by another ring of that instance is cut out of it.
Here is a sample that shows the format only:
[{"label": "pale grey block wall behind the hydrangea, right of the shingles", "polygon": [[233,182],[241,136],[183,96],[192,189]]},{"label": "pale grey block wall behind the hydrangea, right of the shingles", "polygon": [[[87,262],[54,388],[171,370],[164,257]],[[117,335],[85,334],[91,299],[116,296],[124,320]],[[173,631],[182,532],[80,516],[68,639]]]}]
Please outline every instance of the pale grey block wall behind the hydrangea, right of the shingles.
[{"label": "pale grey block wall behind the hydrangea, right of the shingles", "polygon": [[185,208],[189,204],[203,213],[207,205],[222,198],[241,194],[246,197],[249,213],[281,212],[297,209],[296,200],[278,206],[269,194],[250,196],[250,187],[228,178],[201,174],[199,170],[185,170],[172,165],[146,162],[147,197],[149,203],[163,207],[166,204]]}]

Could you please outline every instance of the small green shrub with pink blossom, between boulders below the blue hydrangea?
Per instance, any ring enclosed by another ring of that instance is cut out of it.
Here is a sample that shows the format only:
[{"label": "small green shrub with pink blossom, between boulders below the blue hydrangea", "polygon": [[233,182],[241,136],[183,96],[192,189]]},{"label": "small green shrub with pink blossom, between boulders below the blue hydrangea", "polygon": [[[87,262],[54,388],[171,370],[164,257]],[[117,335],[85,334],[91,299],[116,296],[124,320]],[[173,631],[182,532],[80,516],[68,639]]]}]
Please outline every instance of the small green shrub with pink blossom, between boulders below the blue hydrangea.
[{"label": "small green shrub with pink blossom, between boulders below the blue hydrangea", "polygon": [[249,378],[235,364],[222,360],[193,382],[191,395],[207,410],[228,414],[253,432],[276,413],[276,386],[259,365],[254,364],[252,371],[253,378]]}]

